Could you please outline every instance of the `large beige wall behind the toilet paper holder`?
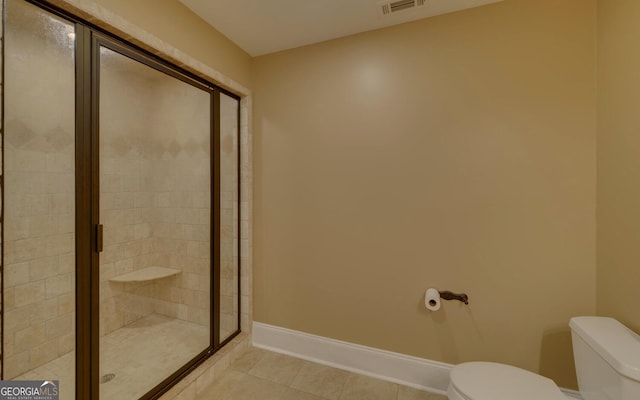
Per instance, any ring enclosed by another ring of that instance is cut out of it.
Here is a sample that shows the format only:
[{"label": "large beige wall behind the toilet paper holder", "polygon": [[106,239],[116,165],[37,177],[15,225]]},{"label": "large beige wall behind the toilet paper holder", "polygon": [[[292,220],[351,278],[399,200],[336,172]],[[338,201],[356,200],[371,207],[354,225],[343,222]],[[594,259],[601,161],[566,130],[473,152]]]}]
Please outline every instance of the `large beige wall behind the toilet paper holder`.
[{"label": "large beige wall behind the toilet paper holder", "polygon": [[575,387],[595,35],[595,1],[508,0],[254,59],[254,319]]}]

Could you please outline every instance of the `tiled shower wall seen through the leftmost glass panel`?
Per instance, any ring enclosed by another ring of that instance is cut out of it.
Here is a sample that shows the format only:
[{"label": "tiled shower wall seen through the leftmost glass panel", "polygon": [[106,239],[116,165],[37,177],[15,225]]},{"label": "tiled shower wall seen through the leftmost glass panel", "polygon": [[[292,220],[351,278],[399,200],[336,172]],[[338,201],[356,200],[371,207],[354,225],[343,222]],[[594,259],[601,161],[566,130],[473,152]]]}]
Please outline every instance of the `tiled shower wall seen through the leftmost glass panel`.
[{"label": "tiled shower wall seen through the leftmost glass panel", "polygon": [[[15,59],[7,68],[16,70],[7,69],[12,80],[4,92],[12,99],[4,121],[5,379],[71,351],[75,342],[72,31],[42,18],[16,21],[11,32],[21,26],[31,31],[11,38],[6,57]],[[46,30],[57,35],[42,41]],[[17,56],[17,48],[28,51]]]}]

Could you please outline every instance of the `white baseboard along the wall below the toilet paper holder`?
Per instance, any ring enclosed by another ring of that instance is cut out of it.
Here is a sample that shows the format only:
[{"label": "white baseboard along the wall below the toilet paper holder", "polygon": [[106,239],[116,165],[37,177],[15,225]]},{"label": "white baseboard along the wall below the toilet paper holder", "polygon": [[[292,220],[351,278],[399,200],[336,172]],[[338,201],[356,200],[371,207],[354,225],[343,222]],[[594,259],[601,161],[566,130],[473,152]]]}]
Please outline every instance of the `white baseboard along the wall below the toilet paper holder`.
[{"label": "white baseboard along the wall below the toilet paper holder", "polygon": [[[318,364],[447,394],[453,365],[253,322],[253,345]],[[562,389],[572,398],[580,393]]]}]

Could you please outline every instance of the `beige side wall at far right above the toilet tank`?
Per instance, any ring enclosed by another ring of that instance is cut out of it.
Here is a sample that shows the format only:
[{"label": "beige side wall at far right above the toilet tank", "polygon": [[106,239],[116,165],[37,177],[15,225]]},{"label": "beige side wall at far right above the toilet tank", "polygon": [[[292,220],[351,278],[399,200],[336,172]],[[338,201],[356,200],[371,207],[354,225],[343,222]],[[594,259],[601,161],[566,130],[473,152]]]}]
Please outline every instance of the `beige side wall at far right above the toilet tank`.
[{"label": "beige side wall at far right above the toilet tank", "polygon": [[598,314],[640,331],[640,3],[598,1]]}]

